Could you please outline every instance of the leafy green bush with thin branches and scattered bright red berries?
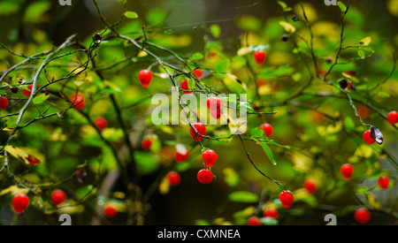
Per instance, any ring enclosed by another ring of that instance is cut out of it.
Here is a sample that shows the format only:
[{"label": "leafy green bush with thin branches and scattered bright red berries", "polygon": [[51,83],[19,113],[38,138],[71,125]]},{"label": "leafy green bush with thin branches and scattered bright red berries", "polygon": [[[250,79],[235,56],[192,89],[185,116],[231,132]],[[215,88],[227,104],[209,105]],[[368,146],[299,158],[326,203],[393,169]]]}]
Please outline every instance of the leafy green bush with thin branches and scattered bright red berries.
[{"label": "leafy green bush with thin branches and scattered bright red berries", "polygon": [[[273,15],[184,33],[161,8],[56,2],[0,2],[0,224],[396,224],[396,36],[359,5],[232,4]],[[55,40],[84,4],[97,29]]]}]

